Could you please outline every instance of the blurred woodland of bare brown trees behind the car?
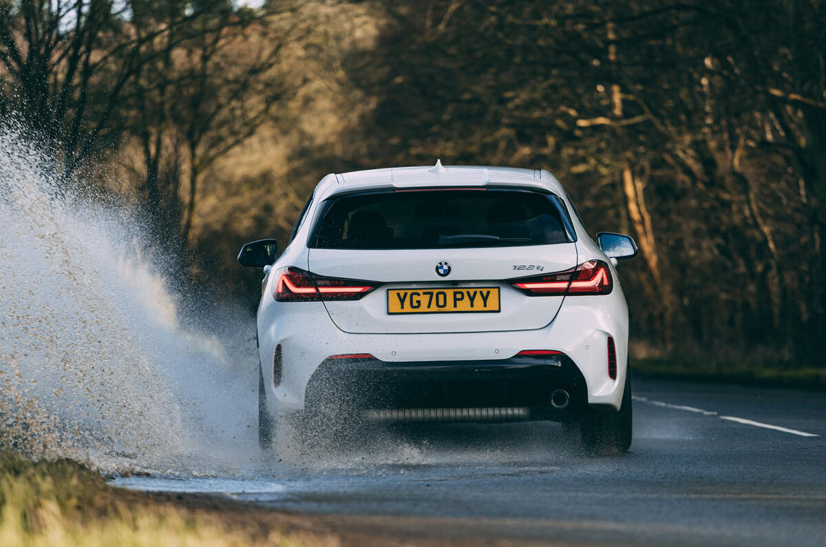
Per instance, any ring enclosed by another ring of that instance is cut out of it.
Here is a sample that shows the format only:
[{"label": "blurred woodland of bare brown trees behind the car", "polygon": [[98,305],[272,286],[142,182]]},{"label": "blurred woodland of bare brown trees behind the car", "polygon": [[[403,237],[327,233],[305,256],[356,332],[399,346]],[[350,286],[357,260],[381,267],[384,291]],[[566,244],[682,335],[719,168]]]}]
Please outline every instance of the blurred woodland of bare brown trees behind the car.
[{"label": "blurred woodland of bare brown trees behind the car", "polygon": [[441,158],[550,169],[634,236],[635,357],[826,357],[818,0],[0,0],[0,118],[250,307],[235,254],[321,177]]}]

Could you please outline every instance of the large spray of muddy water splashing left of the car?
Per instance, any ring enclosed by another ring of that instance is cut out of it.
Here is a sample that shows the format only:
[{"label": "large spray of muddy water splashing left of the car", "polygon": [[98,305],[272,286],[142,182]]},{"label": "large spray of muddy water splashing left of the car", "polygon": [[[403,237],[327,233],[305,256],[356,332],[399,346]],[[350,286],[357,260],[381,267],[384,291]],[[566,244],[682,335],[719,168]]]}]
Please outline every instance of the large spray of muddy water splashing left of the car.
[{"label": "large spray of muddy water splashing left of the car", "polygon": [[51,165],[16,127],[0,127],[7,442],[102,468],[192,469],[257,454],[249,316],[222,310],[220,335],[188,327],[167,280],[141,258],[140,223],[58,188]]}]

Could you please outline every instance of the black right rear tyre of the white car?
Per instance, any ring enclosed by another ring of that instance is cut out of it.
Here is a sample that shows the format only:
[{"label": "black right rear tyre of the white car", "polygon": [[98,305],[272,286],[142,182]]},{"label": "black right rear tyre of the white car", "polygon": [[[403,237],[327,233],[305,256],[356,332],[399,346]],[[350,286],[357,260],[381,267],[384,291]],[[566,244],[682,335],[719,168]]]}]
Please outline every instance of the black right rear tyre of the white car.
[{"label": "black right rear tyre of the white car", "polygon": [[634,430],[631,405],[631,377],[625,375],[625,389],[619,411],[587,408],[581,422],[582,448],[588,454],[617,454],[631,448]]}]

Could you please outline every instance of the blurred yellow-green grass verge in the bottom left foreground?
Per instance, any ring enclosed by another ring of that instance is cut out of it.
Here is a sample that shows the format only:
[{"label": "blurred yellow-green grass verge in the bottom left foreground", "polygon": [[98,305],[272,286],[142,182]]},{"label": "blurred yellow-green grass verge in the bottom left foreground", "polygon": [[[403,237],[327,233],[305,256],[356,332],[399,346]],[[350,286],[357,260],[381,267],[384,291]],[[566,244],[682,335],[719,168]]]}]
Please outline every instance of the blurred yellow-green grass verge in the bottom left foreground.
[{"label": "blurred yellow-green grass verge in the bottom left foreground", "polygon": [[113,488],[69,459],[32,461],[0,451],[0,545],[336,545],[332,538],[285,533],[254,519],[225,516]]}]

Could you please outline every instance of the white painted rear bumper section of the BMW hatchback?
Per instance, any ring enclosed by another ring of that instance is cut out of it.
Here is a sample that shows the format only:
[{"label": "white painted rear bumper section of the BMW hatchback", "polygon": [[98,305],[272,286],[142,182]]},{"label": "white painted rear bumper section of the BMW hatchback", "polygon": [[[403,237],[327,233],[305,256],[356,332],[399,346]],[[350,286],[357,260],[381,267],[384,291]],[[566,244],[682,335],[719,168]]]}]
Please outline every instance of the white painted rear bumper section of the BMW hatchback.
[{"label": "white painted rear bumper section of the BMW hatchback", "polygon": [[[275,302],[273,302],[275,303]],[[259,354],[263,378],[273,378],[273,352],[282,345],[282,378],[267,382],[267,402],[273,413],[302,411],[311,379],[334,354],[372,354],[387,367],[409,363],[472,363],[495,365],[521,350],[558,350],[570,358],[585,381],[590,405],[619,409],[628,355],[628,312],[615,287],[606,296],[567,298],[548,326],[533,331],[438,334],[352,334],[330,321],[322,302],[282,303],[259,309]],[[615,340],[617,375],[607,369],[607,339]],[[424,369],[416,369],[420,373]],[[358,385],[352,386],[356,390]],[[336,392],[344,392],[339,388]]]}]

